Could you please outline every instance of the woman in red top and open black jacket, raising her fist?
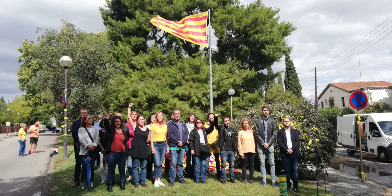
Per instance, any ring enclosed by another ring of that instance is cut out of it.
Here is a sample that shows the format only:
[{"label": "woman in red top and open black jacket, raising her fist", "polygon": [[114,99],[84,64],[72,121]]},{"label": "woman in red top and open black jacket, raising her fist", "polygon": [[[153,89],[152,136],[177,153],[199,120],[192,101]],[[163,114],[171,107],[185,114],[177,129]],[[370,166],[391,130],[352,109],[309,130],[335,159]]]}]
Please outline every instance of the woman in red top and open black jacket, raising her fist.
[{"label": "woman in red top and open black jacket, raising her fist", "polygon": [[[106,128],[103,136],[103,146],[106,149],[106,163],[108,166],[107,172],[107,192],[113,192],[113,179],[116,165],[118,165],[118,172],[120,173],[120,189],[125,190],[125,160],[128,156],[129,131],[123,128],[123,121],[121,116],[114,116],[109,124],[109,119],[113,115],[113,111],[109,111],[103,121]],[[128,148],[127,148],[128,149]]]}]

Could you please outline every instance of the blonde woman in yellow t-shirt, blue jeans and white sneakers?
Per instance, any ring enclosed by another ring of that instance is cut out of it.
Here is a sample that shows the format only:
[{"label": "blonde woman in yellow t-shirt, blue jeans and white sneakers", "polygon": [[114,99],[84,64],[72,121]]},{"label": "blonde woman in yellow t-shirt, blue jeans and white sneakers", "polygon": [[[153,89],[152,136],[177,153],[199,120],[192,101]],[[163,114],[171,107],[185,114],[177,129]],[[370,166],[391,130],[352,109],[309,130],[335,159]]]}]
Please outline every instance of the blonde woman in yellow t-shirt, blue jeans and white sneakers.
[{"label": "blonde woman in yellow t-shirt, blue jeans and white sneakers", "polygon": [[154,154],[154,187],[165,184],[161,182],[162,178],[162,163],[165,154],[169,152],[169,145],[167,139],[167,125],[165,125],[166,117],[162,112],[155,113],[155,119],[151,124],[150,140],[151,152]]}]

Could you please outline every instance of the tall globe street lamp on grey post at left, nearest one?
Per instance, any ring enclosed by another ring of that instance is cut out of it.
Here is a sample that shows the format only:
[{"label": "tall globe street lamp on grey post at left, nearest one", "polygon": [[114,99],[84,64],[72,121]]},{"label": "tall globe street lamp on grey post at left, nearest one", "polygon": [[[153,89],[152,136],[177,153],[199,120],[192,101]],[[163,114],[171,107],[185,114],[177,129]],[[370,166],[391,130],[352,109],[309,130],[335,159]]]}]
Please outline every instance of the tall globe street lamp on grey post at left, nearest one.
[{"label": "tall globe street lamp on grey post at left, nearest one", "polygon": [[67,158],[67,68],[71,67],[72,65],[72,59],[69,56],[62,56],[60,60],[58,61],[59,64],[64,67],[64,94],[65,97],[64,99],[64,157],[63,159]]}]

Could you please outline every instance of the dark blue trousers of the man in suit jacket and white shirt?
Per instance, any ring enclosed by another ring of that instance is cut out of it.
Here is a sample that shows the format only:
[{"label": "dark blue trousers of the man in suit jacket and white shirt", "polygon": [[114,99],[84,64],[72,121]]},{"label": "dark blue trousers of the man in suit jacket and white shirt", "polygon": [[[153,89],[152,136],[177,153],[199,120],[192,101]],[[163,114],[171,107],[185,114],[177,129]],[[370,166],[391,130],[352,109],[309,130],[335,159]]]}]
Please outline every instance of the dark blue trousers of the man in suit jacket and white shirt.
[{"label": "dark blue trousers of the man in suit jacket and white shirt", "polygon": [[291,188],[290,179],[293,180],[293,188],[298,189],[298,158],[292,154],[282,156],[283,168],[285,169],[287,189]]}]

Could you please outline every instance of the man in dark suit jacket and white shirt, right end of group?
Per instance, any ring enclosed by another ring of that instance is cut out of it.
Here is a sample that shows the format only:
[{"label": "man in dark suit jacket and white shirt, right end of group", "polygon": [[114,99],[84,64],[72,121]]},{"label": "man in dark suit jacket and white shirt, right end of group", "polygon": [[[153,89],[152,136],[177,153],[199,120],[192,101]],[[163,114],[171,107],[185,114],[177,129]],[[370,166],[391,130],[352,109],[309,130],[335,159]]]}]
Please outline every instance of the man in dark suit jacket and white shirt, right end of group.
[{"label": "man in dark suit jacket and white shirt, right end of group", "polygon": [[290,128],[290,118],[283,118],[283,128],[278,131],[277,142],[280,156],[283,161],[287,179],[287,191],[291,190],[290,179],[293,180],[293,191],[300,194],[298,189],[298,158],[299,158],[299,135],[296,129]]}]

